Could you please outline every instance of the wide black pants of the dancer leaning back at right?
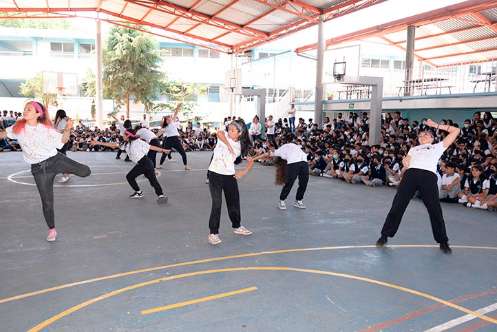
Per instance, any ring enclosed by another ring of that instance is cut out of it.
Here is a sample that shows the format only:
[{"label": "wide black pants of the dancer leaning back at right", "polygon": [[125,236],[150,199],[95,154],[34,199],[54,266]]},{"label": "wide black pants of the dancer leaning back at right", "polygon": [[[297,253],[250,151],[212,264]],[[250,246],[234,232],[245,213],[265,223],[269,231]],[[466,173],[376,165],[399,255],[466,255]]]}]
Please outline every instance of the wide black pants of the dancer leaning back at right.
[{"label": "wide black pants of the dancer leaning back at right", "polygon": [[407,169],[397,189],[392,207],[381,229],[382,236],[393,238],[401,225],[402,216],[408,204],[416,191],[423,199],[430,222],[432,222],[432,231],[435,241],[438,243],[447,242],[447,233],[445,231],[445,222],[443,221],[442,208],[438,200],[438,185],[436,174],[424,169]]}]

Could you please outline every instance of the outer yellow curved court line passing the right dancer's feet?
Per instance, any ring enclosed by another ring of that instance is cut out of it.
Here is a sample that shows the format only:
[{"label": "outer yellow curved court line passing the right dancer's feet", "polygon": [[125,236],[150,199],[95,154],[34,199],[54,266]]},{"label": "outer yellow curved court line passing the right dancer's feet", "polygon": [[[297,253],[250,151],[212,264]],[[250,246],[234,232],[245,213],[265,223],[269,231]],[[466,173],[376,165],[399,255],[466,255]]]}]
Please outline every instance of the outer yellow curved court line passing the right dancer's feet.
[{"label": "outer yellow curved court line passing the right dancer's feet", "polygon": [[[386,248],[392,247],[392,248],[432,248],[432,247],[438,247],[437,245],[389,245],[385,246]],[[463,248],[463,249],[489,249],[489,250],[497,250],[497,247],[476,247],[476,246],[461,246],[461,245],[452,245],[452,248]],[[317,247],[317,248],[301,248],[301,249],[283,249],[283,250],[274,250],[274,251],[260,251],[258,253],[242,253],[240,255],[233,255],[233,256],[223,256],[223,257],[215,257],[215,258],[206,258],[204,260],[191,260],[189,262],[182,262],[182,263],[176,263],[176,264],[170,264],[170,265],[162,265],[160,267],[150,267],[148,269],[140,269],[140,270],[135,270],[135,271],[128,271],[128,272],[123,272],[123,273],[116,273],[112,274],[109,276],[103,276],[103,277],[98,277],[98,278],[92,278],[92,279],[87,279],[83,281],[78,281],[78,282],[71,282],[70,284],[61,284],[60,286],[56,287],[50,287],[46,289],[40,289],[39,291],[32,291],[30,293],[24,293],[20,295],[15,295],[10,298],[4,298],[0,300],[1,303],[5,302],[10,302],[14,300],[20,300],[23,298],[29,298],[30,296],[34,295],[39,295],[43,293],[48,293],[50,291],[58,291],[59,289],[65,289],[68,287],[74,287],[78,286],[81,284],[89,284],[91,282],[98,282],[102,280],[109,280],[109,279],[114,279],[114,278],[120,278],[120,277],[125,277],[125,276],[131,276],[134,274],[138,273],[145,273],[145,272],[151,272],[151,271],[158,271],[162,269],[170,269],[172,267],[184,267],[187,265],[194,265],[194,264],[202,264],[202,263],[208,263],[208,262],[216,262],[219,260],[230,260],[233,258],[246,258],[246,257],[252,257],[252,256],[262,256],[262,255],[272,255],[275,253],[294,253],[294,252],[302,252],[302,251],[318,251],[318,250],[335,250],[335,249],[365,249],[365,248],[378,248],[376,245],[350,245],[350,246],[341,246],[341,247]],[[378,248],[381,250],[381,248]]]}]

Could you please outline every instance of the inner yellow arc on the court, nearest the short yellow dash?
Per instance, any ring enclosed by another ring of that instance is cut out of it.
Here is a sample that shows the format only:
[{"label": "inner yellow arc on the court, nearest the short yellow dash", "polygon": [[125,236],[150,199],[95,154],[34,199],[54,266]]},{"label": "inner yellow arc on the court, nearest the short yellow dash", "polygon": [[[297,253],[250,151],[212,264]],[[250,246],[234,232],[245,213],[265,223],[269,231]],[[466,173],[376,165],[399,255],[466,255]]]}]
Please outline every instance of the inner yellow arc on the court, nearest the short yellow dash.
[{"label": "inner yellow arc on the court, nearest the short yellow dash", "polygon": [[122,289],[116,289],[115,291],[112,291],[110,293],[105,293],[101,296],[98,296],[98,298],[93,298],[91,300],[87,300],[83,303],[80,303],[70,309],[67,309],[57,315],[54,315],[52,318],[49,318],[45,320],[44,322],[41,322],[40,324],[34,326],[32,329],[29,329],[28,332],[36,332],[40,331],[44,327],[52,324],[53,322],[56,322],[57,320],[60,320],[61,318],[70,315],[70,313],[74,313],[75,311],[78,311],[79,309],[82,309],[84,307],[89,306],[89,304],[93,304],[95,302],[98,302],[100,300],[104,300],[106,298],[111,298],[114,295],[118,295],[120,293],[124,293],[125,291],[131,291],[134,289],[138,289],[140,287],[145,287],[149,286],[151,284],[157,284],[158,282],[163,282],[167,280],[176,280],[176,279],[181,279],[181,278],[187,278],[191,276],[201,276],[205,274],[212,274],[212,273],[224,273],[224,272],[233,272],[233,271],[298,271],[298,272],[306,272],[306,273],[316,273],[316,274],[324,274],[328,276],[337,276],[337,277],[342,277],[342,278],[348,278],[348,279],[354,279],[354,280],[361,280],[364,282],[371,282],[373,284],[380,284],[385,287],[390,287],[393,289],[399,289],[400,291],[405,291],[408,293],[412,293],[414,295],[419,295],[422,296],[423,298],[428,298],[430,300],[434,300],[438,303],[445,304],[447,307],[452,307],[454,309],[457,309],[459,311],[463,311],[465,313],[469,313],[470,315],[474,315],[482,320],[486,320],[487,322],[491,322],[494,324],[497,324],[497,320],[494,320],[493,318],[489,318],[485,315],[482,315],[480,313],[477,313],[476,311],[472,311],[469,309],[466,309],[464,307],[458,306],[457,304],[442,300],[441,298],[436,298],[430,294],[427,293],[422,293],[421,291],[415,291],[414,289],[408,289],[405,287],[397,286],[395,284],[390,284],[388,282],[382,282],[379,280],[374,280],[370,278],[363,278],[359,276],[352,276],[350,274],[344,274],[344,273],[336,273],[336,272],[329,272],[329,271],[320,271],[320,270],[312,270],[312,269],[299,269],[295,267],[233,267],[233,268],[227,268],[227,269],[214,269],[214,270],[205,270],[205,271],[195,271],[195,272],[190,272],[190,273],[183,273],[179,274],[178,276],[169,276],[165,278],[158,278],[156,280],[149,280],[147,282],[140,282],[139,284],[134,284],[128,287],[124,287]]}]

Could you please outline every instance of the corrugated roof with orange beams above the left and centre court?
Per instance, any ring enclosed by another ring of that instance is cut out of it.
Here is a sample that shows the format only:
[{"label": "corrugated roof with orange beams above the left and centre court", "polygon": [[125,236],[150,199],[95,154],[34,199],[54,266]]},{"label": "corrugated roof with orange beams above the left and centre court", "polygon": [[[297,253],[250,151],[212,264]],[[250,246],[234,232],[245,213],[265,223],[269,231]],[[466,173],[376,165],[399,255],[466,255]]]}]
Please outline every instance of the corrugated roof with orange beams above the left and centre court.
[{"label": "corrugated roof with orange beams above the left and centre court", "polygon": [[[95,17],[178,41],[242,52],[387,0],[3,0],[6,19]],[[19,13],[24,13],[19,15]]]}]

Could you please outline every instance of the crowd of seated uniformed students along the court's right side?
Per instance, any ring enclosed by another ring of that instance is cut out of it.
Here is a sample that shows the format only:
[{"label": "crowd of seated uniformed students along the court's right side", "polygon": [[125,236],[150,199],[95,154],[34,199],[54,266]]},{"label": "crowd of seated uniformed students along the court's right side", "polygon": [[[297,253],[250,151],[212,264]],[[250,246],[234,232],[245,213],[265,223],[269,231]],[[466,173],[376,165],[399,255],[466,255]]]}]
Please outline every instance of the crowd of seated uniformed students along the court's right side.
[{"label": "crowd of seated uniformed students along the court's right side", "polygon": [[[274,141],[257,141],[256,152],[277,149],[282,141],[293,141],[308,154],[309,174],[335,178],[350,184],[370,187],[396,187],[403,176],[402,158],[410,147],[417,145],[419,132],[431,130],[437,143],[447,132],[428,128],[421,123],[402,118],[400,112],[382,119],[379,145],[368,145],[368,113],[338,114],[326,118],[323,129],[299,119],[296,132],[277,126]],[[459,127],[450,119],[442,124]],[[304,125],[300,125],[304,124]],[[300,127],[300,128],[299,128]],[[467,207],[494,210],[497,207],[497,125],[496,118],[476,112],[461,128],[461,136],[445,150],[438,162],[440,199],[446,203],[463,203]],[[279,132],[278,132],[279,131]],[[271,165],[271,158],[260,160]]]}]

